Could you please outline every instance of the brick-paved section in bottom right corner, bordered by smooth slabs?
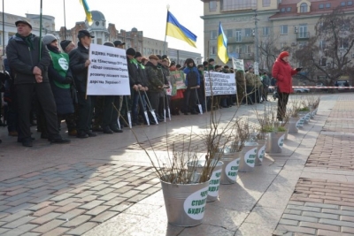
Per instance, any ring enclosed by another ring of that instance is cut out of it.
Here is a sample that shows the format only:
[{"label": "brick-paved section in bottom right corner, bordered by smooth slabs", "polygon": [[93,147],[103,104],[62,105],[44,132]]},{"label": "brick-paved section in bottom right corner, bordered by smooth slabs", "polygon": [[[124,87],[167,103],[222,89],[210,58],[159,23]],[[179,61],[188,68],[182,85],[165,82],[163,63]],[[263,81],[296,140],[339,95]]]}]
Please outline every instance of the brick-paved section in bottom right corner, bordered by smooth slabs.
[{"label": "brick-paved section in bottom right corner, bordered by smooth slabs", "polygon": [[[353,202],[348,202],[347,194],[342,194],[351,191],[354,184],[348,182],[299,179],[273,234],[292,236],[297,232],[332,236],[354,232]],[[338,200],[333,201],[328,195],[331,193],[335,193]]]}]

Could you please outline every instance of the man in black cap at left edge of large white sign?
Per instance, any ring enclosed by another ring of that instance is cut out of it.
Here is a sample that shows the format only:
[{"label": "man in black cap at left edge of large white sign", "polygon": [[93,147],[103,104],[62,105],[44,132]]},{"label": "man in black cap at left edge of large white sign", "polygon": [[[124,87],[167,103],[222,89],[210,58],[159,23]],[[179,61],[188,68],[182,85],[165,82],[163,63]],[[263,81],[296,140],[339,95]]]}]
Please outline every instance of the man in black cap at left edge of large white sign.
[{"label": "man in black cap at left edge of large white sign", "polygon": [[70,54],[70,69],[73,72],[76,89],[78,91],[79,118],[77,122],[77,137],[89,138],[96,137],[96,133],[91,131],[92,113],[95,106],[96,96],[87,95],[86,88],[88,83],[89,71],[89,45],[92,36],[87,30],[80,30],[78,33],[78,47],[73,49]]}]

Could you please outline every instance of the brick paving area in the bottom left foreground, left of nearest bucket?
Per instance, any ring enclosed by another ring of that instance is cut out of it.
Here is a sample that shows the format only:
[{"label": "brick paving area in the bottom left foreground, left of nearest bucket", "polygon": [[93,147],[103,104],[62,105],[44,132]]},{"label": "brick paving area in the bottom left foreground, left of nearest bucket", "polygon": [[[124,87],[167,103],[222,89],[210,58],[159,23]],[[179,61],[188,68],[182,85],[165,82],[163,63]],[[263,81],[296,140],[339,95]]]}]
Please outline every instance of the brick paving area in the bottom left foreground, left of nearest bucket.
[{"label": "brick paving area in the bottom left foreground, left of nearest bucket", "polygon": [[0,182],[0,235],[81,235],[158,192],[146,166],[62,164]]}]

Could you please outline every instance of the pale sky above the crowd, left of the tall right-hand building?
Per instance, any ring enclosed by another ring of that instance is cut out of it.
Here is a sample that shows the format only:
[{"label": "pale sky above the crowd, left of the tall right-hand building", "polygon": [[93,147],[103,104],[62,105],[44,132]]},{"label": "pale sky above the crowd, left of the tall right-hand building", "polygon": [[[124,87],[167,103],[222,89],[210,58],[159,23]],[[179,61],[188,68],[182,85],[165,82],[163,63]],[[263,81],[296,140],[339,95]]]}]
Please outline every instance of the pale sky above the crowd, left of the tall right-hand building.
[{"label": "pale sky above the crowd, left of the tall right-hand building", "polygon": [[[40,0],[3,0],[4,12],[19,16],[26,13],[39,14]],[[42,0],[42,13],[55,17],[56,30],[64,27],[64,1],[66,27],[85,20],[85,12],[79,0]],[[196,48],[187,42],[167,36],[168,47],[204,54],[203,2],[200,0],[87,0],[91,11],[101,11],[107,23],[115,24],[118,30],[130,31],[136,27],[145,37],[165,40],[167,5],[180,24],[196,34]],[[2,6],[0,6],[2,7]]]}]

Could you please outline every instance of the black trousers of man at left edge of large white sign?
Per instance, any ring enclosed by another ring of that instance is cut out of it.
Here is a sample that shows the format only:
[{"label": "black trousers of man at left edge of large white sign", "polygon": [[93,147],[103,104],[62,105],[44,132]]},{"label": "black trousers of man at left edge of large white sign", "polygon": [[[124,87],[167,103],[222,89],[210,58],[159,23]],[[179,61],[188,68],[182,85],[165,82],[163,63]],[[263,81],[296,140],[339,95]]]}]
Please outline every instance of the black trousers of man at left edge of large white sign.
[{"label": "black trousers of man at left edge of large white sign", "polygon": [[77,123],[78,132],[89,132],[91,129],[92,114],[95,107],[96,96],[88,95],[86,98],[86,93],[79,92],[79,118]]}]

